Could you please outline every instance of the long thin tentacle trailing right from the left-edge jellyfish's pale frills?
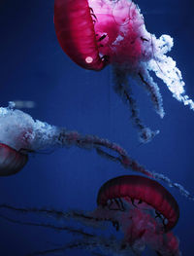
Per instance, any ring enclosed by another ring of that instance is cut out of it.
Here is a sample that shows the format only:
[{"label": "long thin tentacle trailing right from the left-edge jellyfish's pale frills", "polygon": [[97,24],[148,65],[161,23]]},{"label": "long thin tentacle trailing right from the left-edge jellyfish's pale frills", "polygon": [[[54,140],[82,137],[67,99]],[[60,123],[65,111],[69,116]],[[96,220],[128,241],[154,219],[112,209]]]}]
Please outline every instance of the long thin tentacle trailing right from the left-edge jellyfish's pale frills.
[{"label": "long thin tentacle trailing right from the left-edge jellyfish's pale frills", "polygon": [[[67,132],[64,130],[60,132],[58,140],[61,146],[76,145],[85,149],[94,148],[99,155],[106,157],[109,160],[118,162],[120,165],[124,166],[127,169],[132,169],[133,171],[140,172],[158,181],[164,181],[169,187],[174,187],[178,189],[181,195],[194,201],[194,196],[191,195],[187,190],[185,190],[180,184],[171,181],[164,174],[147,170],[146,167],[140,165],[138,162],[129,157],[127,152],[122,147],[109,141],[108,139],[103,139],[92,135],[82,136],[78,132]],[[118,156],[114,157],[113,155],[107,153],[104,149],[111,149],[114,153],[117,153]]]}]

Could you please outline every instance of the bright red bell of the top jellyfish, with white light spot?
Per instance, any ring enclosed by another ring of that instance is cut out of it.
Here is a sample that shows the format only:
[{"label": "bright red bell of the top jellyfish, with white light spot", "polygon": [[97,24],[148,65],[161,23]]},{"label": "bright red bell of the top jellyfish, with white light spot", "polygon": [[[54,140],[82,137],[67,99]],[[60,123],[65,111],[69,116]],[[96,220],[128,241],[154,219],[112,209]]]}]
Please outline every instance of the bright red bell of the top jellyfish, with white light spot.
[{"label": "bright red bell of the top jellyfish, with white light spot", "polygon": [[90,12],[87,0],[57,0],[54,2],[54,26],[67,55],[83,68],[101,70],[105,63],[99,55]]}]

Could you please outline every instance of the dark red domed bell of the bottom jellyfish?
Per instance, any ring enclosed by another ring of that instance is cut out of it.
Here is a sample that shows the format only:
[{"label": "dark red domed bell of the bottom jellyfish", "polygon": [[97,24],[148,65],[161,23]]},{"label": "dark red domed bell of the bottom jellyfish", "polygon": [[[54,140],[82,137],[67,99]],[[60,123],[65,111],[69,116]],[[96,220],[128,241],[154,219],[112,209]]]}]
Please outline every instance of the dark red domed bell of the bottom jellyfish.
[{"label": "dark red domed bell of the bottom jellyfish", "polygon": [[[98,193],[97,204],[108,205],[108,201],[124,198],[127,201],[146,202],[162,214],[168,224],[165,231],[170,231],[178,223],[179,207],[174,197],[155,180],[138,175],[125,175],[106,182]],[[109,206],[109,205],[108,205]]]}]

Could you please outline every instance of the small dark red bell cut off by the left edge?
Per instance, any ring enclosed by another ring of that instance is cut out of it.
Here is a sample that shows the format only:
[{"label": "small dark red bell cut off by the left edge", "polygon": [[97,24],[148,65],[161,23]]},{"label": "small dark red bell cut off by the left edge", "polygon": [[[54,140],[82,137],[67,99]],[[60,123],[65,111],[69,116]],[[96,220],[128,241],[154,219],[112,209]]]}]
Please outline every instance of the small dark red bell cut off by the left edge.
[{"label": "small dark red bell cut off by the left edge", "polygon": [[0,143],[0,176],[16,174],[16,172],[27,164],[27,161],[27,154]]}]

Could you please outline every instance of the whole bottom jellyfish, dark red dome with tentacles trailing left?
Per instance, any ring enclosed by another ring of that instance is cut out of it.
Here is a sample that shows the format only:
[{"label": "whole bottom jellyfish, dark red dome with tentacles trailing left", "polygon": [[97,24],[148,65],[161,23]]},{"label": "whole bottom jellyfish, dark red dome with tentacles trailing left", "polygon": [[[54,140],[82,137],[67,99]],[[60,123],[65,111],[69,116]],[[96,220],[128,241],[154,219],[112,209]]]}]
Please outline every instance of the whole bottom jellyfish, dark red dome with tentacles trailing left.
[{"label": "whole bottom jellyfish, dark red dome with tentacles trailing left", "polygon": [[[17,208],[0,204],[1,211],[44,214],[44,216],[54,217],[56,220],[60,219],[59,225],[24,222],[2,214],[0,217],[19,224],[67,231],[81,237],[81,239],[74,240],[69,244],[30,255],[47,255],[74,248],[90,251],[98,249],[103,252],[103,255],[109,253],[112,255],[141,255],[146,247],[155,251],[158,256],[181,255],[178,248],[178,238],[171,231],[178,223],[178,202],[158,182],[137,175],[113,178],[100,188],[97,204],[96,210],[88,213],[78,210],[63,212],[47,208]],[[113,224],[115,234],[120,231],[123,236],[121,238],[116,236],[102,238],[94,231],[88,233],[81,228],[71,227],[67,224],[61,225],[62,220],[65,223],[74,220],[93,229],[105,229],[105,227],[110,229],[107,224]]]}]

